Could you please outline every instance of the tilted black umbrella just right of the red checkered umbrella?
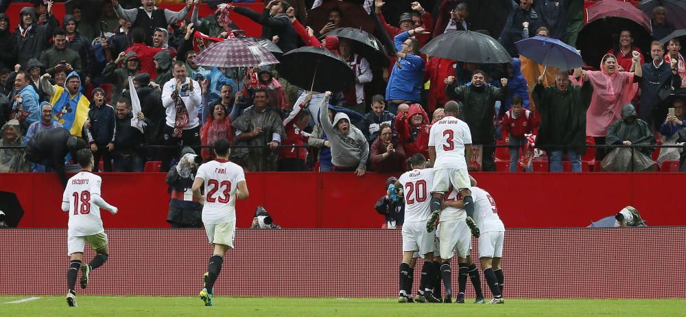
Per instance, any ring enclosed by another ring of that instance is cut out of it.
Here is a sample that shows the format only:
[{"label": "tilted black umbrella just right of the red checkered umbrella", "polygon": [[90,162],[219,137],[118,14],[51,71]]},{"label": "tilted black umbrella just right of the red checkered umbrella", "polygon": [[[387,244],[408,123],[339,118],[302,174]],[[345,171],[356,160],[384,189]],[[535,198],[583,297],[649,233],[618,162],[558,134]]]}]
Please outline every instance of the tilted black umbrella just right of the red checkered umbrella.
[{"label": "tilted black umbrella just right of the red checkered umbrella", "polygon": [[338,91],[355,83],[355,73],[340,56],[320,47],[300,47],[281,56],[279,75],[311,91]]}]

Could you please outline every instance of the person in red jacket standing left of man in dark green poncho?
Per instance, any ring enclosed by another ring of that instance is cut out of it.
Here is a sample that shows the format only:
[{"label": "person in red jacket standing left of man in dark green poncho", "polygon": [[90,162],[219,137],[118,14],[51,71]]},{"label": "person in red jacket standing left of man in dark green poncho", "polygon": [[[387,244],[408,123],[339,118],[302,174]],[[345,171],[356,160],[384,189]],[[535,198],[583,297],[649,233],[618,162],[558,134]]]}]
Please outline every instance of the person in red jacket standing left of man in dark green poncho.
[{"label": "person in red jacket standing left of man in dark green poncho", "polygon": [[[526,145],[524,134],[539,134],[536,116],[532,111],[523,108],[521,97],[512,97],[512,108],[503,116],[501,135],[505,143],[510,145],[510,172],[517,172],[519,164],[519,150]],[[526,167],[524,172],[531,172],[532,167]]]}]

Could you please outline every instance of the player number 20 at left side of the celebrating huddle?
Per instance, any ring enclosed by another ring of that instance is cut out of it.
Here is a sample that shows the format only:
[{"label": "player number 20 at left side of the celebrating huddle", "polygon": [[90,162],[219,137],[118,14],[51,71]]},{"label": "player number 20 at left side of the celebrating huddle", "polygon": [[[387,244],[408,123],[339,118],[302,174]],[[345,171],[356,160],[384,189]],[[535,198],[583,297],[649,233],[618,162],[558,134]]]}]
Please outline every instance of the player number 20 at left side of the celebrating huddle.
[{"label": "player number 20 at left side of the celebrating huddle", "polygon": [[414,301],[421,303],[440,303],[431,294],[434,276],[438,274],[433,265],[435,231],[427,232],[427,220],[431,217],[429,198],[431,185],[434,182],[434,169],[425,168],[426,158],[422,154],[410,157],[412,170],[405,172],[395,183],[395,187],[403,189],[405,198],[405,223],[403,224],[403,263],[400,264],[400,294],[399,303],[407,303],[412,294],[408,294],[410,285],[408,272],[412,255],[418,252],[425,259],[422,266],[422,277],[419,290]]}]

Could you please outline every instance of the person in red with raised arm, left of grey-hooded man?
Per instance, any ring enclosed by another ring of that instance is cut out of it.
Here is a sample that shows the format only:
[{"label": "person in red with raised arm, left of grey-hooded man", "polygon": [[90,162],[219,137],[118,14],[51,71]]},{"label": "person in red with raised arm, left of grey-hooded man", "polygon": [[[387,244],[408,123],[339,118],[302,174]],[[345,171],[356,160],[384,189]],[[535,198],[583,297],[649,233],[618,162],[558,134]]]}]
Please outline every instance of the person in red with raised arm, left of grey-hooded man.
[{"label": "person in red with raised arm, left of grey-hooded man", "polygon": [[302,104],[296,105],[291,113],[283,119],[283,128],[286,131],[286,138],[281,141],[281,145],[294,145],[298,148],[282,146],[279,148],[279,172],[302,172],[305,171],[305,161],[307,160],[307,145],[309,133],[305,132],[311,115],[309,111],[300,111],[307,108],[312,93],[307,94]]}]

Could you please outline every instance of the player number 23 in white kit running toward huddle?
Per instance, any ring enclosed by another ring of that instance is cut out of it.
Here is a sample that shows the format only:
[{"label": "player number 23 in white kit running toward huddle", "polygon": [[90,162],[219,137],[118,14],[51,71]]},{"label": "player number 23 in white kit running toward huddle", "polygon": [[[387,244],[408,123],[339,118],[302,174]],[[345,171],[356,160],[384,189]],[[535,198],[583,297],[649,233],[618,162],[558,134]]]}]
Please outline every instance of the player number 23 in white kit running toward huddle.
[{"label": "player number 23 in white kit running toward huddle", "polygon": [[[213,305],[213,287],[222,271],[224,254],[228,248],[233,248],[236,233],[236,198],[248,198],[248,185],[243,167],[228,161],[228,147],[226,139],[214,143],[216,158],[198,167],[192,187],[193,197],[203,205],[202,223],[214,248],[207,272],[203,276],[205,285],[200,291],[200,298],[205,306]],[[200,193],[200,187],[203,185],[204,196]]]}]

